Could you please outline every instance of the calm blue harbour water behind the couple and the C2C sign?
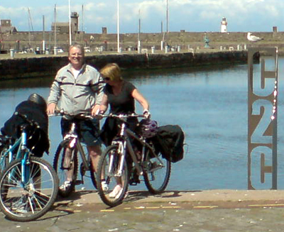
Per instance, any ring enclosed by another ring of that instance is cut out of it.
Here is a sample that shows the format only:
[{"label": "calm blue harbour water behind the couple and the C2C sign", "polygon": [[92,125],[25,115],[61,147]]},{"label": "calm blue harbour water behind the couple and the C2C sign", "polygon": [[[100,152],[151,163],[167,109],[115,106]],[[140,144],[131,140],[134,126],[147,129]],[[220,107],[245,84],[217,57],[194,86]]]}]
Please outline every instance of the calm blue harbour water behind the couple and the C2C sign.
[{"label": "calm blue harbour water behind the couple and the C2C sign", "polygon": [[[278,189],[284,189],[283,87],[284,60],[279,62]],[[259,72],[259,65],[256,72]],[[247,65],[125,72],[146,96],[159,125],[178,124],[185,132],[185,155],[173,164],[168,189],[247,189]],[[15,106],[36,92],[48,97],[53,77],[0,83],[0,125]],[[141,112],[137,105],[137,112]],[[52,162],[60,136],[60,118],[50,118]],[[271,162],[271,160],[266,160]],[[256,168],[259,168],[256,164]],[[254,174],[258,178],[260,173]],[[266,174],[271,182],[271,174]],[[270,186],[268,184],[268,186]],[[82,185],[79,187],[83,187]],[[86,188],[91,188],[89,181]],[[145,189],[139,184],[133,189]]]}]

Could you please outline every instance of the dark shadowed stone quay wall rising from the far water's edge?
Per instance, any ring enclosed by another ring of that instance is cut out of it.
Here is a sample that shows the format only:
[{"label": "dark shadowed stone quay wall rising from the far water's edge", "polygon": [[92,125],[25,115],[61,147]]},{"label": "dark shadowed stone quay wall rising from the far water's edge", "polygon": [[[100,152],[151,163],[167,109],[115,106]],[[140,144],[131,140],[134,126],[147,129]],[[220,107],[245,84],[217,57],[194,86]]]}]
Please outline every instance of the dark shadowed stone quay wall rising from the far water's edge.
[{"label": "dark shadowed stone quay wall rising from the far water's edge", "polygon": [[[122,69],[198,67],[202,65],[234,65],[247,62],[247,51],[211,53],[113,54],[88,55],[86,62],[100,69],[116,62]],[[54,75],[68,63],[67,56],[27,57],[0,60],[0,80]]]}]

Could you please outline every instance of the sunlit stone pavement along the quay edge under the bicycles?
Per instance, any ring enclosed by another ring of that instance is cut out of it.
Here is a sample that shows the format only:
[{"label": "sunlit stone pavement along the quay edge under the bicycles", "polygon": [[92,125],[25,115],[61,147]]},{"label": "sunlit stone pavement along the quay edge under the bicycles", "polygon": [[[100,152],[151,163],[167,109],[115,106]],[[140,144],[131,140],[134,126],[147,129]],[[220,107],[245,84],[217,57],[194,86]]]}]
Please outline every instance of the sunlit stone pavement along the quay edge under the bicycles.
[{"label": "sunlit stone pavement along the quay edge under the bicycles", "polygon": [[9,221],[1,231],[283,231],[283,190],[168,191],[158,196],[129,192],[109,208],[97,192],[58,199],[37,221]]}]

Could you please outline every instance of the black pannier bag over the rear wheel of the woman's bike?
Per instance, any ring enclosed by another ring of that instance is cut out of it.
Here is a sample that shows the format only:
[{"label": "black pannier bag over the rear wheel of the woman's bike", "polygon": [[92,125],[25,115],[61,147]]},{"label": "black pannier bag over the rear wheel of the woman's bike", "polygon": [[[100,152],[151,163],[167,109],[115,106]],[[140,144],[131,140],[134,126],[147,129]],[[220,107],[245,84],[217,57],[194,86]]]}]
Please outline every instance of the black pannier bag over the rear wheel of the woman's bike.
[{"label": "black pannier bag over the rear wheel of the woman's bike", "polygon": [[160,152],[163,158],[170,162],[178,162],[183,158],[183,145],[185,134],[178,125],[166,125],[158,127],[158,133],[151,138],[156,152]]}]

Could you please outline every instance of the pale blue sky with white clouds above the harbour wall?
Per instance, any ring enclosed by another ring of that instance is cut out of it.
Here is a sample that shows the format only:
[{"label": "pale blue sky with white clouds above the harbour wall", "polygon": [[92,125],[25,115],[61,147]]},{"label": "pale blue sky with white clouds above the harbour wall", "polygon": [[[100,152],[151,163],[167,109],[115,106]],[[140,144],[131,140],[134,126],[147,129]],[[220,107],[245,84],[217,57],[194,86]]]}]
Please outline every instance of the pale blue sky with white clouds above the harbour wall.
[{"label": "pale blue sky with white clouds above the harbour wall", "polygon": [[[0,18],[11,19],[18,31],[28,31],[28,9],[33,31],[50,31],[56,4],[57,21],[68,21],[68,0],[1,0]],[[116,33],[117,0],[70,0],[71,11],[80,15],[80,28],[87,33]],[[166,30],[167,0],[119,0],[121,33],[142,33]],[[82,6],[84,11],[82,11]],[[168,0],[169,31],[219,32],[222,17],[228,22],[228,32],[271,32],[273,26],[284,31],[284,1],[282,0]],[[140,13],[139,13],[140,12]],[[162,23],[163,22],[163,23]]]}]

